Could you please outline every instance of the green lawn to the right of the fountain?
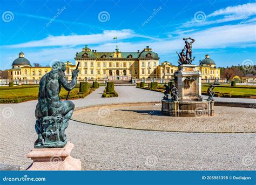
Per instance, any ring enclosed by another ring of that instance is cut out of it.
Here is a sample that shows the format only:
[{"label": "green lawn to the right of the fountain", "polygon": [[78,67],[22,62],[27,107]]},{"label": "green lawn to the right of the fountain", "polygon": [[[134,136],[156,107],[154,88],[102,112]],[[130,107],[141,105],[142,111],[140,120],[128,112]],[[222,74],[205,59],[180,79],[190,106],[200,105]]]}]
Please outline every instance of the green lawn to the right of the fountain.
[{"label": "green lawn to the right of the fountain", "polygon": [[[208,89],[207,86],[202,86],[202,92],[206,92]],[[215,87],[213,90],[215,93],[228,93],[228,94],[234,94],[234,95],[245,95],[245,94],[251,94],[256,95],[256,89],[255,88],[238,88],[238,87]]]}]

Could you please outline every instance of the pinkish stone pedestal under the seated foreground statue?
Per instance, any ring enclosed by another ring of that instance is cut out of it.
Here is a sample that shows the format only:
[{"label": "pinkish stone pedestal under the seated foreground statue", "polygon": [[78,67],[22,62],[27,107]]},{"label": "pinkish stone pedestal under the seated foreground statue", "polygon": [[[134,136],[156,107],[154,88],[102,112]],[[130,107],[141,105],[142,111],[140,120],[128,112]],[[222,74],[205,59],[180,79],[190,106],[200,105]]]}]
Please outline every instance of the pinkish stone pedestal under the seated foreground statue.
[{"label": "pinkish stone pedestal under the seated foreground statue", "polygon": [[70,156],[74,147],[68,142],[63,148],[33,148],[27,157],[33,163],[26,170],[82,170],[82,163]]}]

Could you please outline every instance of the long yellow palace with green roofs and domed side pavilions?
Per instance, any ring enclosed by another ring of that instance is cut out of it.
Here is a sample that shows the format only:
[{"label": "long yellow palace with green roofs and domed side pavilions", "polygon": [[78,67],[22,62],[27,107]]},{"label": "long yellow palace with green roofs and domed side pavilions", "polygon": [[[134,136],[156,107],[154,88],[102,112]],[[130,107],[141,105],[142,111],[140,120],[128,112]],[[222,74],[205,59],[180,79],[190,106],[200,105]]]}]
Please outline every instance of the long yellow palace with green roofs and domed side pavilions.
[{"label": "long yellow palace with green roofs and domed side pavilions", "polygon": [[[178,58],[178,57],[177,57]],[[120,52],[98,52],[91,50],[87,45],[81,52],[76,53],[74,65],[66,61],[66,78],[71,80],[72,71],[80,62],[78,81],[105,81],[105,80],[144,80],[160,81],[161,83],[172,80],[178,66],[164,61],[159,65],[159,56],[149,46],[143,51]],[[214,61],[206,54],[205,59],[200,61],[198,68],[202,79],[212,83],[220,81],[220,69],[216,68]],[[8,70],[9,81],[19,84],[38,84],[44,74],[51,71],[51,67],[32,67],[24,53],[12,63]]]}]

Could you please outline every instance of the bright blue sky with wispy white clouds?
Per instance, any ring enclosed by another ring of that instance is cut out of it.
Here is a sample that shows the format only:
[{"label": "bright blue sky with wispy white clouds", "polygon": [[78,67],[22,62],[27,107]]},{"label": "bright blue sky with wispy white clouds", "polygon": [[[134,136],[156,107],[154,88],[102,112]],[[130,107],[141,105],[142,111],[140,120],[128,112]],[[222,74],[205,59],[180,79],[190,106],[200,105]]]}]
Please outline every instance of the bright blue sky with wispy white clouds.
[{"label": "bright blue sky with wispy white clouds", "polygon": [[177,65],[184,37],[196,39],[195,64],[210,54],[217,66],[255,65],[255,1],[1,0],[0,69],[23,51],[32,63],[72,61],[84,45],[122,52],[149,45],[160,62]]}]

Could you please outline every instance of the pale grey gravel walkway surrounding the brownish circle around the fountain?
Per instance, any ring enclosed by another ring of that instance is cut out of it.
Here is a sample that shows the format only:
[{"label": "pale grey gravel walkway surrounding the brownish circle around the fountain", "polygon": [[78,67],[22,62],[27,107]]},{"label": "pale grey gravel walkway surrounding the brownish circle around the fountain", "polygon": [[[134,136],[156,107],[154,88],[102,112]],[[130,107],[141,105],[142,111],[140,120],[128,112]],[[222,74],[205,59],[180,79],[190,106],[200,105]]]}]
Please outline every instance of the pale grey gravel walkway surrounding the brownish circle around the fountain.
[{"label": "pale grey gravel walkway surrounding the brownish circle around the fountain", "polygon": [[[112,102],[158,101],[163,94],[116,87],[118,98],[100,98],[103,87],[76,106]],[[31,160],[37,101],[0,104],[0,163],[23,169]],[[170,118],[171,119],[171,118]],[[256,134],[203,134],[138,131],[70,121],[66,134],[72,156],[84,170],[254,170]]]}]

